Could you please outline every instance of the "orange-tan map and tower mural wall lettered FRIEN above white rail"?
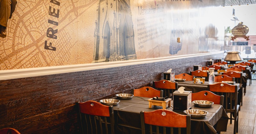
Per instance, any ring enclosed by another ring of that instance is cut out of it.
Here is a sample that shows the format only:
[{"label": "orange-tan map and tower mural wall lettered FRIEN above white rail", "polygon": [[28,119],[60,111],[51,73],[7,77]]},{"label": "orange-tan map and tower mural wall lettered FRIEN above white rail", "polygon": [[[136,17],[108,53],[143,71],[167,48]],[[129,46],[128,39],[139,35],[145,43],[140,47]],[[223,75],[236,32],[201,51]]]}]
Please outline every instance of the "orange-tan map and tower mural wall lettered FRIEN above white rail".
[{"label": "orange-tan map and tower mural wall lettered FRIEN above white rail", "polygon": [[0,70],[197,54],[224,44],[218,0],[0,4]]}]

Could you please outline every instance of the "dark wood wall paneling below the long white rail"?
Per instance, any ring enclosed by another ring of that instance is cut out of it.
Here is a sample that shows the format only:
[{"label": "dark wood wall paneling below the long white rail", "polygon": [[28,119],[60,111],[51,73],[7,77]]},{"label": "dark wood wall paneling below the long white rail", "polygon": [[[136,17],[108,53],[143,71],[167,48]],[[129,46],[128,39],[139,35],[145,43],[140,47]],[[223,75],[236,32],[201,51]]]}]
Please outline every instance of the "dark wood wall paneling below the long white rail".
[{"label": "dark wood wall paneling below the long white rail", "polygon": [[132,88],[152,86],[162,72],[190,72],[218,55],[138,64],[100,70],[0,81],[0,129],[12,127],[28,133],[78,133],[75,103],[131,93]]}]

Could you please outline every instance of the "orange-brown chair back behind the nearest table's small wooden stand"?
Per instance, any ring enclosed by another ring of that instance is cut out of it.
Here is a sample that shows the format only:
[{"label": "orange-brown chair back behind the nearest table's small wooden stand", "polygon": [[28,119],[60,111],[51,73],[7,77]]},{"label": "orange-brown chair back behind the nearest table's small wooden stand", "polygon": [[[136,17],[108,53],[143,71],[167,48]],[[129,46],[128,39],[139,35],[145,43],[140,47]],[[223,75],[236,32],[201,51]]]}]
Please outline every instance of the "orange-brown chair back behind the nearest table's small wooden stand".
[{"label": "orange-brown chair back behind the nearest table's small wooden stand", "polygon": [[150,86],[141,87],[139,89],[132,89],[132,94],[134,96],[140,96],[140,97],[163,97],[163,90],[156,90]]}]

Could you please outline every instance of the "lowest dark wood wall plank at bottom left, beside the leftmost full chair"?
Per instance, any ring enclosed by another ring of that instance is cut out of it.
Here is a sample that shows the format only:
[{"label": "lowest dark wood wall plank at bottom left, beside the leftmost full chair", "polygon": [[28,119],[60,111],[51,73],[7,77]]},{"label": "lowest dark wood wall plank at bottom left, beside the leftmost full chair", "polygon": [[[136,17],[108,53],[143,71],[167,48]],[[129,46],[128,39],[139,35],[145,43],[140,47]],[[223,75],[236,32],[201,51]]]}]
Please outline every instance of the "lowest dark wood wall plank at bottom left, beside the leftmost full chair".
[{"label": "lowest dark wood wall plank at bottom left, beside the leftmost full chair", "polygon": [[21,134],[29,133],[78,133],[77,107],[71,105],[52,112],[25,118],[13,123],[0,125],[0,128],[16,128]]}]

